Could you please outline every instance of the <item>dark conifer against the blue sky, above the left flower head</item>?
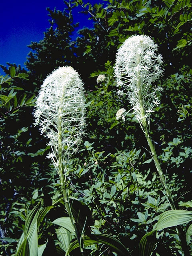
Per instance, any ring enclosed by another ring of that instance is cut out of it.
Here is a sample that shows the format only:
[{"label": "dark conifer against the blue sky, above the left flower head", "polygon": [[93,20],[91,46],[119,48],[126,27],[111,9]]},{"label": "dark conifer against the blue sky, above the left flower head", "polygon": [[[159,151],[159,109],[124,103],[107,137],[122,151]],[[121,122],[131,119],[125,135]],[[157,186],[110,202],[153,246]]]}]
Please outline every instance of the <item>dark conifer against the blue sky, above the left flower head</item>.
[{"label": "dark conifer against the blue sky, above the left flower head", "polygon": [[44,33],[40,42],[32,42],[28,47],[32,50],[27,57],[26,68],[41,83],[48,74],[59,66],[69,65],[74,59],[73,43],[70,36],[77,24],[73,24],[71,11],[47,9],[50,16],[50,28]]}]

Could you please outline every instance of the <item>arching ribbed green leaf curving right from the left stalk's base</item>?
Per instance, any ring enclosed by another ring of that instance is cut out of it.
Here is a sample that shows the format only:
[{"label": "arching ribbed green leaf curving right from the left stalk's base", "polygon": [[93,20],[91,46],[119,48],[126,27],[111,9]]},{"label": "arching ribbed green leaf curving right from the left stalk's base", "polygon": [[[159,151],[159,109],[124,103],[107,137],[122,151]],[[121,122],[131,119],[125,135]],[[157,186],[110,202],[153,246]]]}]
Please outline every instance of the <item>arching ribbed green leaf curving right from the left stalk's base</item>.
[{"label": "arching ribbed green leaf curving right from the left stalk's base", "polygon": [[[110,248],[112,248],[114,250],[114,252],[116,252],[119,255],[123,255],[123,256],[131,255],[130,252],[126,249],[126,247],[121,242],[119,242],[116,238],[114,238],[112,236],[103,235],[103,234],[95,234],[95,235],[91,235],[90,237],[83,236],[82,239],[83,239],[85,246],[90,246],[92,244],[101,243],[101,244],[105,244],[106,246],[109,246]],[[72,252],[72,250],[74,250],[78,247],[79,247],[79,243],[77,240],[75,240],[74,242],[72,242],[70,244],[65,255],[67,256],[70,252]]]}]

